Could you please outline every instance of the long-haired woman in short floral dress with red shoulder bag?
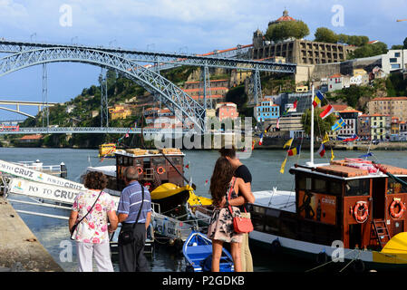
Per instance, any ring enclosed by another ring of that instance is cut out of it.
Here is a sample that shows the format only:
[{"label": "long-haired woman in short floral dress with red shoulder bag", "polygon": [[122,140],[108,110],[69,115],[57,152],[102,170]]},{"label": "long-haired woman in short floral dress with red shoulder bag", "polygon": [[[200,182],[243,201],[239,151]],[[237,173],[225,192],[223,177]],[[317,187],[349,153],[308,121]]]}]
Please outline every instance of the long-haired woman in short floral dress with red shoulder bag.
[{"label": "long-haired woman in short floral dress with red shoulder bag", "polygon": [[[213,204],[217,207],[210,219],[208,238],[212,239],[212,272],[219,271],[220,256],[223,243],[230,243],[230,254],[235,264],[235,272],[241,272],[240,243],[243,234],[237,234],[233,227],[233,217],[240,216],[237,206],[245,202],[253,203],[255,197],[243,179],[234,177],[235,170],[228,159],[220,157],[210,178],[210,194]],[[228,193],[230,191],[230,200]],[[245,198],[237,198],[237,194]],[[232,206],[233,216],[228,206]]]}]

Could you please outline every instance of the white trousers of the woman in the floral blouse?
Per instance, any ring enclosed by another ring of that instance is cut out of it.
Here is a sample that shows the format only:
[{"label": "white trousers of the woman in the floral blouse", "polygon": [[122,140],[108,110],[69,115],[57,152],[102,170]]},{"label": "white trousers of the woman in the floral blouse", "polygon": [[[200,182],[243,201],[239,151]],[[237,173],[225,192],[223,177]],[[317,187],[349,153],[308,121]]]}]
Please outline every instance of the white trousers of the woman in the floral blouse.
[{"label": "white trousers of the woman in the floral blouse", "polygon": [[109,242],[102,244],[76,243],[78,255],[78,271],[92,272],[92,256],[99,272],[114,272],[111,264],[111,247]]}]

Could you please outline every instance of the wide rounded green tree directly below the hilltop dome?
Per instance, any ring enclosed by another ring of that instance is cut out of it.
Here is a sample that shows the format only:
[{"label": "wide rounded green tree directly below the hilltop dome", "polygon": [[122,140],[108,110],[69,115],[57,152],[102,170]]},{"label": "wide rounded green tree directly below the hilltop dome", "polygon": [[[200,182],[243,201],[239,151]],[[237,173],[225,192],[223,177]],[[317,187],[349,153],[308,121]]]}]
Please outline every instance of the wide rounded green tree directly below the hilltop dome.
[{"label": "wide rounded green tree directly below the hilltop dome", "polygon": [[308,34],[308,25],[303,21],[285,21],[268,26],[265,37],[266,40],[277,42],[290,37],[301,39]]}]

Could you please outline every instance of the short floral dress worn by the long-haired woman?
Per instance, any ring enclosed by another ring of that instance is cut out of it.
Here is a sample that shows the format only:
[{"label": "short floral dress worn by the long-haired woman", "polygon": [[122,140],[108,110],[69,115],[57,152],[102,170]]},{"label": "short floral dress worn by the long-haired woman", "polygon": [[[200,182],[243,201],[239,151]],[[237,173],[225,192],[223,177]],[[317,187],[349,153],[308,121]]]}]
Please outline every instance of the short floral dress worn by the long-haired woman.
[{"label": "short floral dress worn by the long-haired woman", "polygon": [[[229,183],[226,198],[228,198],[228,192],[230,187],[234,187],[235,178]],[[230,199],[237,198],[235,189],[232,189]],[[240,209],[237,207],[231,207],[233,216],[230,213],[229,208],[215,208],[210,218],[208,227],[208,238],[220,240],[227,243],[241,243],[243,234],[237,234],[233,227],[233,217],[240,217]]]}]

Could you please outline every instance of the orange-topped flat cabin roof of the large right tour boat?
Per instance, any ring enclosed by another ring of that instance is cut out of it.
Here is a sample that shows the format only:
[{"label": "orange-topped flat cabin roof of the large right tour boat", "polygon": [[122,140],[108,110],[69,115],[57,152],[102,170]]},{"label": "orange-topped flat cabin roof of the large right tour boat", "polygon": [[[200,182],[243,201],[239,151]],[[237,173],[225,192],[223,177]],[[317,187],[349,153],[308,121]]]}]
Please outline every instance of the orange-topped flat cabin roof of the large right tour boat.
[{"label": "orange-topped flat cabin roof of the large right tour boat", "polygon": [[[387,164],[380,164],[392,175],[407,177],[407,169]],[[304,171],[334,179],[365,179],[387,177],[383,172],[373,167],[372,161],[360,159],[332,160],[330,163],[314,164],[314,166],[295,165],[290,170]]]}]

